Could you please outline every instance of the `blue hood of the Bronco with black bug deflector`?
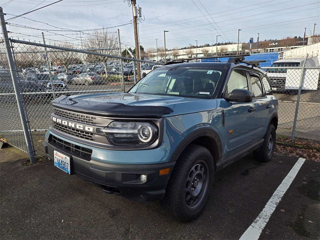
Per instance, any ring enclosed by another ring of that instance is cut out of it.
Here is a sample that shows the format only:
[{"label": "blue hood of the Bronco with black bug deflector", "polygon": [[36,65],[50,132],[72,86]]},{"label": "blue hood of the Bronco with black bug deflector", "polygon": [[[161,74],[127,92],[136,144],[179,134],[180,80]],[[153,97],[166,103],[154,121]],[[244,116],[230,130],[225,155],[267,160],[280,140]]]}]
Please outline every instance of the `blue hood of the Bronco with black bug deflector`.
[{"label": "blue hood of the Bronco with black bug deflector", "polygon": [[96,116],[157,118],[216,109],[217,100],[115,92],[62,95],[52,105]]}]

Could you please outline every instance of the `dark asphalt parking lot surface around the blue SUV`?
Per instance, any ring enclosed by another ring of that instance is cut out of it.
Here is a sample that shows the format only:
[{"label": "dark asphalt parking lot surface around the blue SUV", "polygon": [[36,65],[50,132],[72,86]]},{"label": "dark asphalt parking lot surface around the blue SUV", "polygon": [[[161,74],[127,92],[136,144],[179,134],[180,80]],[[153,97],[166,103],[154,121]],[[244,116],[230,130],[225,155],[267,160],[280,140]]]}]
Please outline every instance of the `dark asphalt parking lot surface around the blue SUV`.
[{"label": "dark asphalt parking lot surface around the blue SUV", "polygon": [[[204,212],[182,224],[157,202],[108,195],[48,159],[23,166],[28,157],[12,147],[0,159],[1,239],[240,239],[298,161],[248,155],[215,174]],[[319,172],[318,162],[302,164],[259,239],[320,238]]]}]

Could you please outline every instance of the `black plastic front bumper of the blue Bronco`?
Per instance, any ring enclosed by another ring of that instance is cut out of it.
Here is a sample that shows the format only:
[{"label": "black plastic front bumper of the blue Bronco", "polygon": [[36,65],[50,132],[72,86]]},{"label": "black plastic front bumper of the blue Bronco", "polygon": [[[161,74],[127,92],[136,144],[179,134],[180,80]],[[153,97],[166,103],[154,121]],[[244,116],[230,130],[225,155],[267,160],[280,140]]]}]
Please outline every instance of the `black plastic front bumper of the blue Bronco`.
[{"label": "black plastic front bumper of the blue Bronco", "polygon": [[[70,150],[60,147],[49,138],[44,140],[44,151],[49,159],[54,159],[53,151],[70,157],[70,174],[101,187],[107,193],[116,193],[136,202],[152,202],[161,200],[165,194],[170,174],[175,162],[160,164],[113,164],[96,159],[82,157]],[[116,151],[121,156],[121,152]],[[131,151],[134,152],[134,151]],[[137,151],[138,152],[138,151]],[[132,159],[139,156],[132,156]],[[152,157],[152,156],[150,156]],[[159,175],[159,170],[170,168],[169,173]],[[145,174],[147,181],[143,182],[140,175]]]}]

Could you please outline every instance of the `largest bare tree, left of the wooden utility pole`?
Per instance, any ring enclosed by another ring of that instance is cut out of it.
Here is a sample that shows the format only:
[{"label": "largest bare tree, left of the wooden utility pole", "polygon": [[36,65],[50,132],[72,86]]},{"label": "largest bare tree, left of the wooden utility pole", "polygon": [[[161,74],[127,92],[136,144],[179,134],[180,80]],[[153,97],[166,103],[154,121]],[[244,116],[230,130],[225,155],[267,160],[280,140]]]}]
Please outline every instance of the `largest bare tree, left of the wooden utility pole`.
[{"label": "largest bare tree, left of the wooden utility pole", "polygon": [[[112,31],[108,32],[108,29],[104,27],[94,29],[87,37],[87,47],[92,48],[92,52],[117,55],[118,41],[116,33]],[[103,64],[106,73],[108,72],[108,60],[108,57],[96,56],[96,61],[99,61],[101,64]]]}]

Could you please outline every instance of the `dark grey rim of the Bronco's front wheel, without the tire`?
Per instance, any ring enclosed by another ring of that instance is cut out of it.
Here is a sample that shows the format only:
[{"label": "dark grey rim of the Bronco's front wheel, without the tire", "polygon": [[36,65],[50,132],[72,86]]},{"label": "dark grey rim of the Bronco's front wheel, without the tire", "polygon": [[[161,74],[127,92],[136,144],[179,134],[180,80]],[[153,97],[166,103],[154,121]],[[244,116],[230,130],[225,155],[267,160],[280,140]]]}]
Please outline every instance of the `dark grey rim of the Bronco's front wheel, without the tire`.
[{"label": "dark grey rim of the Bronco's front wheel, without the tire", "polygon": [[185,184],[185,201],[189,209],[196,208],[203,200],[208,189],[209,167],[198,161],[190,169]]}]

